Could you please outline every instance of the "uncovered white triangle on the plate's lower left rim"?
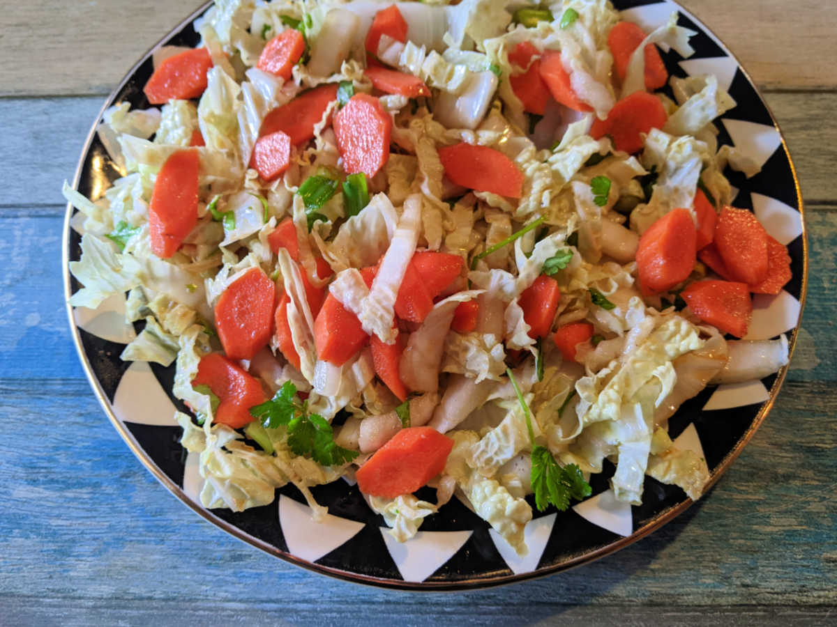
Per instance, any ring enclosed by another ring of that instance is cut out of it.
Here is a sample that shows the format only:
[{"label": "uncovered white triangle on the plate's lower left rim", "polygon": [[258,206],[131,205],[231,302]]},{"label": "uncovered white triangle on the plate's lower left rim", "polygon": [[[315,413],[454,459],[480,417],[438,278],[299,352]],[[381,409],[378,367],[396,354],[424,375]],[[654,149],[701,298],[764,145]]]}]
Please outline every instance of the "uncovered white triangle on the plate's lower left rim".
[{"label": "uncovered white triangle on the plate's lower left rim", "polygon": [[113,397],[113,413],[122,422],[177,426],[172,400],[145,361],[135,361],[122,375]]}]

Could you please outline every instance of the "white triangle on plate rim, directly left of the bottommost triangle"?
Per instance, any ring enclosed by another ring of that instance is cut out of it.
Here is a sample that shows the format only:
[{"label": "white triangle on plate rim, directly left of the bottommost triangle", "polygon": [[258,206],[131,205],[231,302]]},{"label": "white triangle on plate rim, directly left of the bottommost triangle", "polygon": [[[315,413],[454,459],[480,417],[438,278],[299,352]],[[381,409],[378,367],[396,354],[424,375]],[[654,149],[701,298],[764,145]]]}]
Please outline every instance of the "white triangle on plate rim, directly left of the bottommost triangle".
[{"label": "white triangle on plate rim, directly left of the bottommost triangle", "polygon": [[364,526],[363,523],[331,514],[326,514],[323,521],[316,523],[311,517],[311,507],[284,494],[279,497],[279,523],[290,554],[309,562],[347,543]]}]

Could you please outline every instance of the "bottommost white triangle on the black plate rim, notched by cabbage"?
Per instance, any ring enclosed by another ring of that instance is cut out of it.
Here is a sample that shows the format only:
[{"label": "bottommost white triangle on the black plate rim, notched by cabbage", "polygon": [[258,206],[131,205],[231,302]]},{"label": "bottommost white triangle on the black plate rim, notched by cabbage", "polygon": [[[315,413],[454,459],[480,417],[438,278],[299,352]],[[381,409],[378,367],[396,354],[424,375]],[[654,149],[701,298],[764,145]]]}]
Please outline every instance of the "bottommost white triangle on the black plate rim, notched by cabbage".
[{"label": "bottommost white triangle on the black plate rim, notched by cabbage", "polygon": [[393,538],[381,528],[383,543],[404,581],[424,581],[468,542],[470,531],[420,531],[407,542]]}]

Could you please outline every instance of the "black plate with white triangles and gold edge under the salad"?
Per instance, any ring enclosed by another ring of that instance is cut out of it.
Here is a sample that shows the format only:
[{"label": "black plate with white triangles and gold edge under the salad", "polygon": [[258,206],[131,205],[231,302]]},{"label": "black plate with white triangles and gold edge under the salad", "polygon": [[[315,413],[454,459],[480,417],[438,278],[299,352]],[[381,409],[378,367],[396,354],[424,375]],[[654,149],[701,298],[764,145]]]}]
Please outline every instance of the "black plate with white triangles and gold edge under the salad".
[{"label": "black plate with white triangles and gold edge under the salad", "polygon": [[[716,121],[720,144],[732,144],[762,166],[747,179],[727,171],[737,190],[733,204],[756,213],[768,232],[788,245],[793,279],[778,296],[753,299],[753,321],[747,339],[788,334],[793,349],[802,314],[807,279],[807,248],[802,197],[793,164],[775,120],[752,80],[729,50],[706,27],[675,3],[616,0],[623,17],[646,32],[680,11],[680,25],[696,30],[696,49],[683,60],[674,51],[662,53],[670,74],[715,74],[737,107]],[[199,9],[172,30],[157,46],[198,43],[192,28],[208,8]],[[127,101],[146,107],[142,86],[151,75],[149,51],[110,95],[105,107]],[[98,122],[98,119],[96,120]],[[81,193],[101,194],[119,176],[94,130],[90,131],[75,177]],[[67,263],[80,257],[80,235],[70,227],[73,209],[67,208],[64,227],[64,283],[67,298],[78,283]],[[124,299],[122,299],[124,300]],[[327,505],[329,516],[314,528],[305,500],[293,486],[278,490],[276,500],[245,512],[207,510],[198,500],[201,477],[197,456],[179,444],[175,408],[184,409],[171,394],[174,366],[163,368],[141,362],[123,363],[119,354],[136,333],[124,322],[120,298],[100,308],[69,308],[70,327],[81,362],[110,421],[140,461],[176,497],[224,531],[290,563],[341,579],[396,589],[472,589],[507,584],[555,573],[588,563],[624,548],[686,510],[691,500],[679,487],[645,478],[643,504],[631,507],[614,501],[608,480],[614,468],[593,477],[593,496],[566,512],[534,512],[526,527],[530,552],[518,558],[488,523],[454,498],[440,512],[425,519],[421,531],[399,544],[383,530],[383,518],[372,512],[357,487],[345,480],[311,489]],[[670,435],[680,448],[704,456],[716,482],[742,451],[768,414],[788,367],[763,380],[707,388],[686,401],[670,419]],[[707,489],[708,487],[707,486]],[[429,490],[429,488],[424,488]],[[429,495],[432,498],[432,491]]]}]

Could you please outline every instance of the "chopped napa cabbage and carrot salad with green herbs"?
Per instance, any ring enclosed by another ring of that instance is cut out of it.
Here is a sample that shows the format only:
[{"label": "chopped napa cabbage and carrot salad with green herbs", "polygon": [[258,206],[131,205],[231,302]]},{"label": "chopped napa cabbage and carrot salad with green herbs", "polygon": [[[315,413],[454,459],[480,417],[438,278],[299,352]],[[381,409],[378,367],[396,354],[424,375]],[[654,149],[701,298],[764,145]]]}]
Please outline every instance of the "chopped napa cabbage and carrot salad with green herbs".
[{"label": "chopped napa cabbage and carrot salad with green herbs", "polygon": [[203,507],[292,483],[316,519],[343,477],[400,541],[455,495],[523,554],[605,459],[623,502],[701,496],[668,419],[787,363],[741,338],[791,273],[730,206],[725,168],[757,171],[716,140],[735,102],[663,63],[692,53],[676,13],[217,0],[194,27],[147,106],[105,111],[121,178],[64,195],[70,303],[125,298],[121,358],[174,364]]}]

